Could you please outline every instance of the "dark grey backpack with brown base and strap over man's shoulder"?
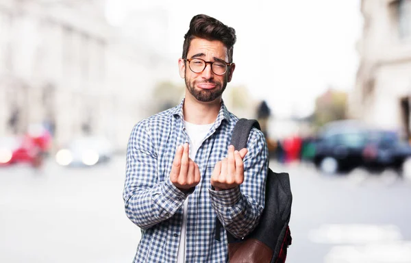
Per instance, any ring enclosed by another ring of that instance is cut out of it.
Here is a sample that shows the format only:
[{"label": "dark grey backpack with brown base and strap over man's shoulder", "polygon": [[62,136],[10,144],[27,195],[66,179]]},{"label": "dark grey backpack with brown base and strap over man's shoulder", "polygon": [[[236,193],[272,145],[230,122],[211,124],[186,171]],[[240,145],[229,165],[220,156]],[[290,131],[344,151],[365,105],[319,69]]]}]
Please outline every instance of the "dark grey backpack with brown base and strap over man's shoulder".
[{"label": "dark grey backpack with brown base and strap over man's shoulder", "polygon": [[[235,149],[247,147],[252,127],[260,129],[256,120],[241,118],[234,127],[231,144]],[[242,239],[226,230],[230,263],[284,263],[291,245],[288,223],[291,215],[292,194],[288,173],[274,173],[269,168],[266,178],[265,208],[256,229]],[[216,219],[216,239],[219,240],[221,222]]]}]

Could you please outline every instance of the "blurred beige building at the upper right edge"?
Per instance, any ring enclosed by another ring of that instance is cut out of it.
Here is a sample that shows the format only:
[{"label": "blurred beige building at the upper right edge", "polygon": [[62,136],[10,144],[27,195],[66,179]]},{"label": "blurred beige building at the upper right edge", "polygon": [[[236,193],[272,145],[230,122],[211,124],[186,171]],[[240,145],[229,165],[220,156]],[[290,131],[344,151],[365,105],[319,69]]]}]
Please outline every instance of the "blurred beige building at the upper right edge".
[{"label": "blurred beige building at the upper right edge", "polygon": [[362,0],[360,66],[352,117],[410,138],[411,0]]}]

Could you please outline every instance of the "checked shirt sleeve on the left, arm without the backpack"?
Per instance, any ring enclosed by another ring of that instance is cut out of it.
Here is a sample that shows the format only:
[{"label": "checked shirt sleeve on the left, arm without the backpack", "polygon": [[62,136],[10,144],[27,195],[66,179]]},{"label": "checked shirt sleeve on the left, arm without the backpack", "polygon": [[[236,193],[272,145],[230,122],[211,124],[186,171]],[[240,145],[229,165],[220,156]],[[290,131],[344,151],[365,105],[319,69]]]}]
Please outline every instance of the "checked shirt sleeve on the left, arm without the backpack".
[{"label": "checked shirt sleeve on the left, arm without the backpack", "polygon": [[157,154],[147,126],[141,121],[129,137],[123,190],[125,213],[142,229],[171,218],[190,194],[170,179],[158,180]]}]

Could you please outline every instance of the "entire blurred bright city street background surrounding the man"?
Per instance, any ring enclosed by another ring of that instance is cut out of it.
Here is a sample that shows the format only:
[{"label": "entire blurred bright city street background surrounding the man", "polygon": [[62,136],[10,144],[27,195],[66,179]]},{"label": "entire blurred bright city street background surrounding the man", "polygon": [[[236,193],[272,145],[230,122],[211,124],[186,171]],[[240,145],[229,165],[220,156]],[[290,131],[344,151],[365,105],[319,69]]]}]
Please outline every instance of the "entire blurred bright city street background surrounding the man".
[{"label": "entire blurred bright city street background surrounding the man", "polygon": [[184,96],[201,13],[236,29],[227,108],[290,173],[287,262],[411,263],[411,0],[0,0],[0,262],[132,262],[127,140]]}]

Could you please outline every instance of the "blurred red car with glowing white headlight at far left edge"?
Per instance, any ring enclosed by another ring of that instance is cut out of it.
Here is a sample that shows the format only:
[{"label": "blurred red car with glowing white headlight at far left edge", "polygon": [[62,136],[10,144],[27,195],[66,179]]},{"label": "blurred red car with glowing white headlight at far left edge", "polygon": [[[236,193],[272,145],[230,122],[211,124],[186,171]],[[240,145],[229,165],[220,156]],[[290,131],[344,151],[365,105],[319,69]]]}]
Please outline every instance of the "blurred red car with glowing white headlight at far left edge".
[{"label": "blurred red car with glowing white headlight at far left edge", "polygon": [[38,148],[30,140],[10,136],[0,138],[0,166],[16,163],[34,164]]}]

